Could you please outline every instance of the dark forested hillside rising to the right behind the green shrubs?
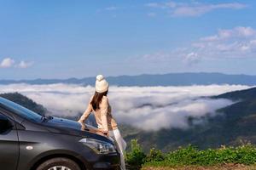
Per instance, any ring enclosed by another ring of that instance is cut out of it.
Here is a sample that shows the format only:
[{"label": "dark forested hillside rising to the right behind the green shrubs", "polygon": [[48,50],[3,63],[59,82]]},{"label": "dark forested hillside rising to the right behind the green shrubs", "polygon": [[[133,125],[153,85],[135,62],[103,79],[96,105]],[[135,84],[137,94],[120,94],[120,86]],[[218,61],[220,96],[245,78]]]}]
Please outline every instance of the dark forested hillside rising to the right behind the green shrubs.
[{"label": "dark forested hillside rising to the right behind the green shrubs", "polygon": [[138,139],[144,150],[155,147],[164,151],[188,144],[200,149],[218,148],[222,144],[256,144],[256,88],[212,98],[232,99],[236,103],[218,110],[218,116],[205,117],[206,123],[194,125],[187,130],[172,128],[145,132],[126,125],[123,128],[125,139]]}]

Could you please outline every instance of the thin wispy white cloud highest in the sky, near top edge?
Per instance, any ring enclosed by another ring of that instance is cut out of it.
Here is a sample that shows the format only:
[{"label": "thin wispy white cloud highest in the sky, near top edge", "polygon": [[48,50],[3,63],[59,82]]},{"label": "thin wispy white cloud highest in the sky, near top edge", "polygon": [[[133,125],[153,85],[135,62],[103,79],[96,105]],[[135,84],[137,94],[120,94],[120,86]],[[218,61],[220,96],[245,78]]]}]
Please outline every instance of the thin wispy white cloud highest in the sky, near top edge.
[{"label": "thin wispy white cloud highest in the sky, near top edge", "polygon": [[171,14],[172,17],[195,17],[207,14],[217,9],[241,9],[246,8],[244,3],[147,3],[149,8],[161,8]]}]

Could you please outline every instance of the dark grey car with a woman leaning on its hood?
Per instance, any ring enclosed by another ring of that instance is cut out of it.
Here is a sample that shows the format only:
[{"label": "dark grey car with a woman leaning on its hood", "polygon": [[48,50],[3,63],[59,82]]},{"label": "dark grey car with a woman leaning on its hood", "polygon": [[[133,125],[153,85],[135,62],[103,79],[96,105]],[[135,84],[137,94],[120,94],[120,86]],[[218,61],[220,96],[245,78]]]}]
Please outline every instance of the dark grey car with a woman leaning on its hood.
[{"label": "dark grey car with a woman leaning on its hood", "polygon": [[112,139],[0,98],[1,170],[119,169]]}]

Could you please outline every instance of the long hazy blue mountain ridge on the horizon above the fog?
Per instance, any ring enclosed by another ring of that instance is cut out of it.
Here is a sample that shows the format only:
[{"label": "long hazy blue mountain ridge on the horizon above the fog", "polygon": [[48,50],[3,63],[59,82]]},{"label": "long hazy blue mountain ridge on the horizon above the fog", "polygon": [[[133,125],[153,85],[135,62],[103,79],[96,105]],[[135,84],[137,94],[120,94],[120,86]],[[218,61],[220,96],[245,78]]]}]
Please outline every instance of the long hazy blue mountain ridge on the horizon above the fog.
[{"label": "long hazy blue mountain ridge on the horizon above the fog", "polygon": [[[166,74],[142,74],[137,76],[107,77],[108,82],[117,86],[189,86],[210,84],[241,84],[256,85],[256,76],[244,74],[224,74],[218,72],[183,72]],[[91,85],[95,84],[95,77],[67,78],[67,79],[33,79],[33,80],[0,80],[0,84],[28,83],[53,84],[70,83]]]}]

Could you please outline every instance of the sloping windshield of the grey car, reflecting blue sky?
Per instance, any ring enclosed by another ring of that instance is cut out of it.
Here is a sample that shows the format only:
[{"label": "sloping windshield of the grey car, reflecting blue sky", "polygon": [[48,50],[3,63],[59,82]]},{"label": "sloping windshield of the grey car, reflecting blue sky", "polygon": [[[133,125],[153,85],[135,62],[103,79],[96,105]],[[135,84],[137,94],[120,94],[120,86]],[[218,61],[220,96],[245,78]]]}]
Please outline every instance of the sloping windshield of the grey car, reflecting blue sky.
[{"label": "sloping windshield of the grey car, reflecting blue sky", "polygon": [[8,99],[3,99],[0,97],[0,105],[2,105],[4,109],[14,112],[16,115],[22,118],[28,119],[33,122],[42,122],[42,116],[40,116],[38,113],[30,111],[21,105],[9,101]]}]

